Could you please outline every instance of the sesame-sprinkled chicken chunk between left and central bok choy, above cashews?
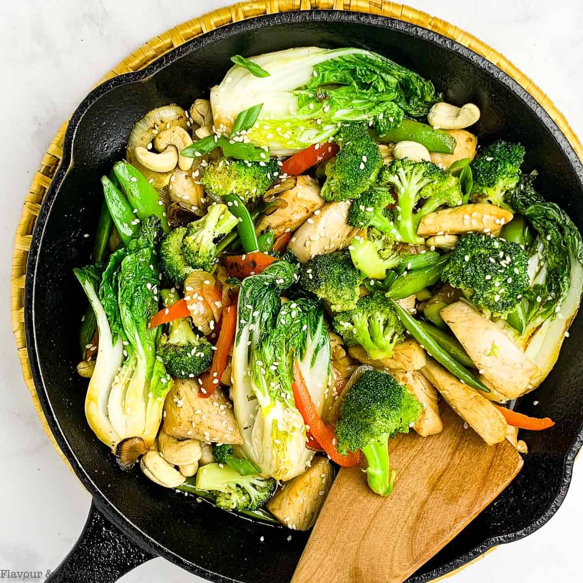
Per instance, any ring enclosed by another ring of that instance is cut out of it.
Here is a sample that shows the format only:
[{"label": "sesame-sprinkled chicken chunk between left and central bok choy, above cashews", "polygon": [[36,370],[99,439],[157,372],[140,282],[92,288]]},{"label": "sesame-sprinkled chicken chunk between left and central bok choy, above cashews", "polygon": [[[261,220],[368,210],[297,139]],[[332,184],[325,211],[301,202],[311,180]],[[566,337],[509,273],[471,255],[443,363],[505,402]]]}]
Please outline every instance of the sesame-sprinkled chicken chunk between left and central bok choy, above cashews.
[{"label": "sesame-sprinkled chicken chunk between left and central bok choy, above cashews", "polygon": [[217,388],[207,398],[194,379],[176,379],[164,402],[164,431],[179,439],[243,443],[233,405]]}]

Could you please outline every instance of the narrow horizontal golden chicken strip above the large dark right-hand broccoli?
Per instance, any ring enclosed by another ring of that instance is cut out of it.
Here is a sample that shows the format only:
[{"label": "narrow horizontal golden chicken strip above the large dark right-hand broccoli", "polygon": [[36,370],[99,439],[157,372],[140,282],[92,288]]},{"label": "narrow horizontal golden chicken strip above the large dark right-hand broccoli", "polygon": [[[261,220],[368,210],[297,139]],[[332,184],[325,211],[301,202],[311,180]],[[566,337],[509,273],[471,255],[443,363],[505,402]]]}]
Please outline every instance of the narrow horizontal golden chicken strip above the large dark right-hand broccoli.
[{"label": "narrow horizontal golden chicken strip above the large dark right-hand broccoli", "polygon": [[469,233],[493,233],[512,220],[510,210],[500,206],[477,204],[454,206],[451,209],[436,210],[421,219],[417,234],[422,237],[433,235]]}]

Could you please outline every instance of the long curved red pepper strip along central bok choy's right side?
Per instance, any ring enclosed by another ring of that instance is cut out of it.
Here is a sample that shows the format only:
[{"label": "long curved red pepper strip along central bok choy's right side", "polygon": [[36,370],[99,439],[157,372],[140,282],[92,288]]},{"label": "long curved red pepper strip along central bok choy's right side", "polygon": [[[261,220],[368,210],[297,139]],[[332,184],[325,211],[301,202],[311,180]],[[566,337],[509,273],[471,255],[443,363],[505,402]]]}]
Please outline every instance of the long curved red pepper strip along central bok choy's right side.
[{"label": "long curved red pepper strip along central bok choy's right side", "polygon": [[294,400],[301,416],[304,418],[304,423],[310,426],[310,433],[315,440],[321,445],[322,449],[329,455],[333,462],[340,466],[350,467],[355,466],[360,462],[361,452],[349,452],[347,455],[342,455],[336,449],[336,436],[332,426],[324,423],[322,417],[318,415],[318,411],[314,406],[314,402],[310,396],[308,388],[305,386],[304,377],[301,374],[300,365],[297,360],[293,365],[294,382],[291,384],[293,390]]}]

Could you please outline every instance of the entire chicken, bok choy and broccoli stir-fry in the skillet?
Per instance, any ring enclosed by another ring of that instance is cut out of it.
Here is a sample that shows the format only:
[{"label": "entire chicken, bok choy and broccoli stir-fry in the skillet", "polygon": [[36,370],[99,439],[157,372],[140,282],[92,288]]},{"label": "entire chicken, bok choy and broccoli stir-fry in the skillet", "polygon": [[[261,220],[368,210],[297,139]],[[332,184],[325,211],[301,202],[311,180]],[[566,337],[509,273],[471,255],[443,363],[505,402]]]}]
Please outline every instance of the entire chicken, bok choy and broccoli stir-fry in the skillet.
[{"label": "entire chicken, bok choy and broccoli stir-fry in the skillet", "polygon": [[440,399],[526,454],[518,429],[553,421],[514,405],[568,336],[583,243],[525,148],[478,144],[478,107],[366,50],[231,60],[101,179],[75,269],[96,436],[125,470],[299,530],[338,466],[391,493],[391,439],[440,433]]}]

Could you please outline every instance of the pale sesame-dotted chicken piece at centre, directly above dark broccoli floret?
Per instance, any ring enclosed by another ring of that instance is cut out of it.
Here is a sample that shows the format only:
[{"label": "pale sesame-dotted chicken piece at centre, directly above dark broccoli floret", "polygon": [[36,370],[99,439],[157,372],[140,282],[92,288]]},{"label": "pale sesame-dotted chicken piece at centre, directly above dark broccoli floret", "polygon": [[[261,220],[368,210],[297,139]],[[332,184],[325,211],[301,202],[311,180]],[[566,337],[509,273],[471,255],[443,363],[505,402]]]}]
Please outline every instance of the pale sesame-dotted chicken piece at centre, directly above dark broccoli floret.
[{"label": "pale sesame-dotted chicken piece at centre, directly above dark broccoli floret", "polygon": [[346,223],[350,202],[327,202],[317,215],[310,217],[291,237],[287,248],[305,263],[315,255],[331,253],[350,245],[359,232]]}]

